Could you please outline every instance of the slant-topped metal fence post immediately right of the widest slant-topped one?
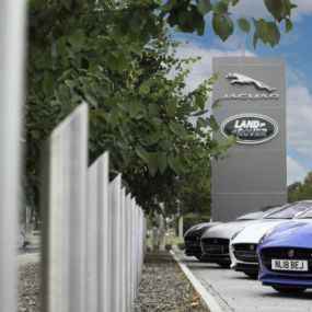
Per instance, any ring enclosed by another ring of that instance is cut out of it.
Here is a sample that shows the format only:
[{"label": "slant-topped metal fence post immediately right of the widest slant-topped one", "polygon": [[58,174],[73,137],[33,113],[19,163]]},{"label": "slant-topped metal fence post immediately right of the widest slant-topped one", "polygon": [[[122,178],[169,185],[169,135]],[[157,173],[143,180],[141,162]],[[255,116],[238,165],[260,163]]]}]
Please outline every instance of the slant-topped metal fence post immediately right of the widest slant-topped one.
[{"label": "slant-topped metal fence post immediately right of the widest slant-topped one", "polygon": [[86,311],[111,311],[108,153],[89,169]]}]

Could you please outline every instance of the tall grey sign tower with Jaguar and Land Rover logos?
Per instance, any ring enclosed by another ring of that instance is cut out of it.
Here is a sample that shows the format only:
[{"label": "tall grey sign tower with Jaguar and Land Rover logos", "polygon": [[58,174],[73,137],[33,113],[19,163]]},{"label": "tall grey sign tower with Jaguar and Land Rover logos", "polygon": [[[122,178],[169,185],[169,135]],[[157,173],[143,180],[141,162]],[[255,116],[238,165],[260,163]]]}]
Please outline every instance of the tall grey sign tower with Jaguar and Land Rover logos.
[{"label": "tall grey sign tower with Jaguar and Land Rover logos", "polygon": [[227,221],[287,201],[285,60],[216,57],[212,68],[215,138],[236,137],[229,158],[212,162],[212,218]]}]

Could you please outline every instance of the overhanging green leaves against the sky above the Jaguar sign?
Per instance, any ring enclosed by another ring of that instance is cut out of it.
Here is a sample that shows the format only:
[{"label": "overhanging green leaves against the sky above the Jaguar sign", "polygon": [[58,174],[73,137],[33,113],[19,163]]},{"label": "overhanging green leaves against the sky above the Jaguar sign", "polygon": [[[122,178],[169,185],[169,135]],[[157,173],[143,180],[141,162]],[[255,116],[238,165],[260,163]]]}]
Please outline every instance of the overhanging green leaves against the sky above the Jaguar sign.
[{"label": "overhanging green leaves against the sky above the Jaguar sign", "polygon": [[257,42],[269,44],[271,47],[279,43],[279,25],[285,22],[286,33],[292,28],[291,10],[297,8],[290,0],[264,0],[268,13],[273,21],[265,19],[239,19],[233,21],[231,16],[232,7],[240,0],[167,0],[162,7],[162,16],[171,26],[177,26],[183,32],[197,32],[203,35],[207,21],[207,15],[211,15],[212,30],[223,42],[234,32],[235,23],[239,27],[249,33],[251,24],[254,26],[253,43],[256,47]]}]

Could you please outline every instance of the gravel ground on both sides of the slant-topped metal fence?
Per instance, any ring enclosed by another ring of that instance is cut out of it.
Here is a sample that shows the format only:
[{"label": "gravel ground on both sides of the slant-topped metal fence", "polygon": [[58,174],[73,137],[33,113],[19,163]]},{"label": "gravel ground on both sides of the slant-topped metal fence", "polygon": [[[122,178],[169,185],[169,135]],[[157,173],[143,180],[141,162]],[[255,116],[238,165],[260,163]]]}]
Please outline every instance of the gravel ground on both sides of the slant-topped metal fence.
[{"label": "gravel ground on both sides of the slant-topped metal fence", "polygon": [[[18,312],[41,311],[39,264],[19,270]],[[136,300],[136,312],[207,312],[171,255],[148,255]]]}]

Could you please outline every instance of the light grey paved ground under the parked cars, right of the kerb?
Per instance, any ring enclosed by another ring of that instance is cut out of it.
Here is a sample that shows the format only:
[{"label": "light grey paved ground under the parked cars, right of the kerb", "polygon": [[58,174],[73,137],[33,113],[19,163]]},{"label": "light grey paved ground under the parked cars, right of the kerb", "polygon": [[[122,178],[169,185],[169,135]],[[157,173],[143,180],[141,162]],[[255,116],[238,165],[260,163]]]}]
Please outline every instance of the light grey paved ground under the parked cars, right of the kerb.
[{"label": "light grey paved ground under the parked cars, right of the kerb", "polygon": [[279,294],[232,269],[196,261],[180,254],[184,264],[209,290],[223,311],[312,311],[312,289],[300,296]]}]

